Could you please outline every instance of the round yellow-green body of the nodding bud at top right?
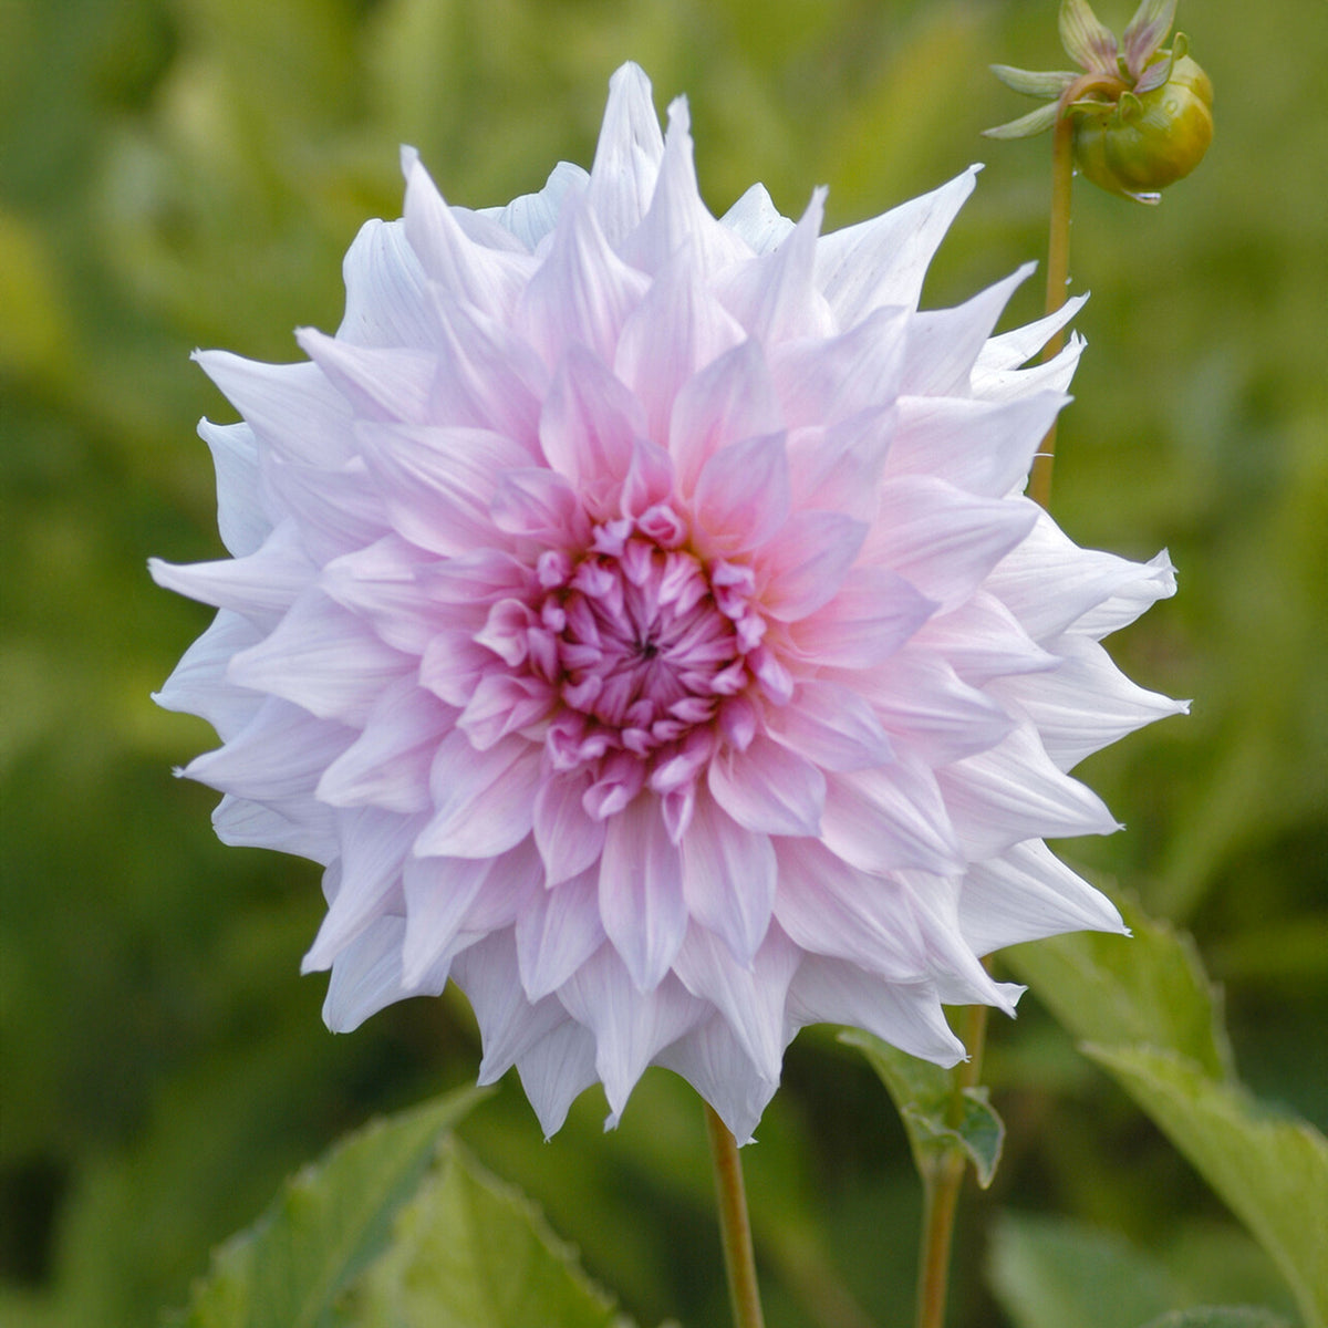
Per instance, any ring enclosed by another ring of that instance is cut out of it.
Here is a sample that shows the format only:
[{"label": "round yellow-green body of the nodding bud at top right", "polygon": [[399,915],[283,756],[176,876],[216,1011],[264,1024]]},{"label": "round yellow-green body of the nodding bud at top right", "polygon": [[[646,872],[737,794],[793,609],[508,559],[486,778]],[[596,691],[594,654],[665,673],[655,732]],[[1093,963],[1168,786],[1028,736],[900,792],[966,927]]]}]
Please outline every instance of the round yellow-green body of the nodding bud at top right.
[{"label": "round yellow-green body of the nodding bud at top right", "polygon": [[1074,161],[1086,179],[1112,194],[1157,202],[1158,190],[1189,175],[1212,141],[1212,84],[1189,56],[1165,84],[1123,93],[1114,105],[1078,102]]}]

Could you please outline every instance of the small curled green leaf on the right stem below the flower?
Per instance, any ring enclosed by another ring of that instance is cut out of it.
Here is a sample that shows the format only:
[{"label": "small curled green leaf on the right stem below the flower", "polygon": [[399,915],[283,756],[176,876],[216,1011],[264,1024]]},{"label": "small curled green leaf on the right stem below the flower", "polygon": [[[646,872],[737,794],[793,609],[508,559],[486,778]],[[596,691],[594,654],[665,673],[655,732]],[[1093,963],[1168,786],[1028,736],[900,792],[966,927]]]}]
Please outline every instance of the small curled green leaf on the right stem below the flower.
[{"label": "small curled green leaf on the right stem below the flower", "polygon": [[923,1179],[935,1173],[943,1157],[957,1150],[973,1163],[977,1183],[984,1190],[991,1185],[1005,1126],[987,1101],[987,1089],[960,1090],[963,1112],[956,1122],[951,1117],[956,1070],[920,1061],[861,1029],[841,1033],[839,1041],[857,1046],[880,1076],[904,1122],[914,1163]]}]

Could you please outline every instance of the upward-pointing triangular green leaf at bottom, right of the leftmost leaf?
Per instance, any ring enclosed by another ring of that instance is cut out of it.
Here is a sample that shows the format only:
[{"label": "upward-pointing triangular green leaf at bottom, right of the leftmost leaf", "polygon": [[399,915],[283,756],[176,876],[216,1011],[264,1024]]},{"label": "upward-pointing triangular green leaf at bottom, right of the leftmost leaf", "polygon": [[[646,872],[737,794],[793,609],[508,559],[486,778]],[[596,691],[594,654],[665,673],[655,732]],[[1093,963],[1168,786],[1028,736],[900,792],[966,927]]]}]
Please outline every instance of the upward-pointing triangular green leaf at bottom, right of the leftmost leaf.
[{"label": "upward-pointing triangular green leaf at bottom, right of the leftmost leaf", "polygon": [[614,1303],[535,1206],[454,1141],[352,1297],[359,1328],[608,1328]]}]

